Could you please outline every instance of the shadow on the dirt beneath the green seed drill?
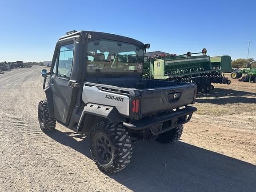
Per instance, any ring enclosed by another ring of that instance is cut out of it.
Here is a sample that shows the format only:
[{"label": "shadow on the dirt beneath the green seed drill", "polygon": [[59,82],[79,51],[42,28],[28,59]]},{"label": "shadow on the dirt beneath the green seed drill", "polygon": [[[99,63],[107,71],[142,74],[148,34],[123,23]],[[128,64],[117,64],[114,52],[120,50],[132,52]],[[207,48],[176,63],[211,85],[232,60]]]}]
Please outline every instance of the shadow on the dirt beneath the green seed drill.
[{"label": "shadow on the dirt beneath the green seed drill", "polygon": [[196,102],[212,104],[256,104],[256,93],[215,88],[211,92],[198,94]]}]

